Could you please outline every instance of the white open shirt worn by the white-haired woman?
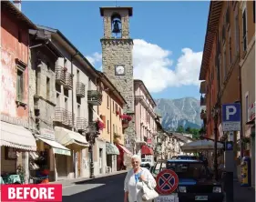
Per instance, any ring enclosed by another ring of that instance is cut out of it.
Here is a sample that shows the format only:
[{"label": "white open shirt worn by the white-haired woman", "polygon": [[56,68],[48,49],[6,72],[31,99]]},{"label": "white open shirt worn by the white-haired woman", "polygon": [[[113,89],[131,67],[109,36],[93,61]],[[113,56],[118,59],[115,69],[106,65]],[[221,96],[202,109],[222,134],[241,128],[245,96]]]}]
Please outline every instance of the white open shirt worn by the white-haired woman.
[{"label": "white open shirt worn by the white-haired woman", "polygon": [[[156,180],[154,177],[151,175],[149,170],[147,168],[141,167],[141,175],[146,177],[146,180],[148,181],[148,187],[155,188],[157,186]],[[136,187],[137,182],[135,180],[135,174],[133,169],[130,169],[128,171],[127,177],[125,179],[125,192],[128,192],[128,201],[129,202],[142,202],[142,193]]]}]

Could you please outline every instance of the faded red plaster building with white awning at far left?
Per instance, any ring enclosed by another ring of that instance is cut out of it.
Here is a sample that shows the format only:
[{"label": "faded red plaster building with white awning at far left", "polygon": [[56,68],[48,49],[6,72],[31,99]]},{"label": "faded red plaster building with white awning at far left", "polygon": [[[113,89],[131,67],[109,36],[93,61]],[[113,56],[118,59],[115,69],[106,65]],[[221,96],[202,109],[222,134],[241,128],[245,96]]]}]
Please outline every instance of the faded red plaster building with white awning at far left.
[{"label": "faded red plaster building with white awning at far left", "polygon": [[1,175],[17,167],[29,178],[28,152],[36,151],[29,128],[29,29],[26,15],[10,1],[1,2]]}]

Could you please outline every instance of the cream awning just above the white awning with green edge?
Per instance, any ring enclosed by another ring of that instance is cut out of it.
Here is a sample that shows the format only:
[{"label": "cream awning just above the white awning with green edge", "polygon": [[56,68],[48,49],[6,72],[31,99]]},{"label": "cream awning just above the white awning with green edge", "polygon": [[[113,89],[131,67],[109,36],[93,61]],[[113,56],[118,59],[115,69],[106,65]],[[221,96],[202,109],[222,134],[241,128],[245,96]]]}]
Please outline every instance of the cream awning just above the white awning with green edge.
[{"label": "cream awning just above the white awning with green edge", "polygon": [[78,151],[89,146],[86,137],[79,133],[59,126],[55,127],[55,132],[56,141],[72,150]]}]

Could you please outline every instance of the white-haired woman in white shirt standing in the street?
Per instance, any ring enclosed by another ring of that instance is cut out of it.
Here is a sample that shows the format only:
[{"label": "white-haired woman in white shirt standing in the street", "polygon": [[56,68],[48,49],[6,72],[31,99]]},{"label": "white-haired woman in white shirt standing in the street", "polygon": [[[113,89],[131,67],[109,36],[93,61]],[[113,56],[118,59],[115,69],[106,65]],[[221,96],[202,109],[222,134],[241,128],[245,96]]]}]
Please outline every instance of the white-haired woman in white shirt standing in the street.
[{"label": "white-haired woman in white shirt standing in the street", "polygon": [[149,170],[140,167],[140,157],[131,157],[132,168],[128,171],[125,179],[125,198],[124,202],[142,202],[142,191],[137,187],[138,181],[143,181],[148,187],[155,188],[156,181]]}]

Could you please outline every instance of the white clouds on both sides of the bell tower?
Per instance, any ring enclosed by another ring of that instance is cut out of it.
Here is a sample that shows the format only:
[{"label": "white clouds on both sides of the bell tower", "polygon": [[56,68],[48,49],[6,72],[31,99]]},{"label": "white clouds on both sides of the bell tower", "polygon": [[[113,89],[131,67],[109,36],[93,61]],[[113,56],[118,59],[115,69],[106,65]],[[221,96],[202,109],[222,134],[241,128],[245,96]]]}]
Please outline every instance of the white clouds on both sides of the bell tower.
[{"label": "white clouds on both sides of the bell tower", "polygon": [[[172,67],[171,51],[135,39],[133,47],[134,78],[140,79],[151,93],[158,93],[171,86],[199,86],[202,52],[193,52],[190,48],[181,49],[181,56]],[[102,71],[102,55],[94,53],[87,56],[89,62]]]}]

